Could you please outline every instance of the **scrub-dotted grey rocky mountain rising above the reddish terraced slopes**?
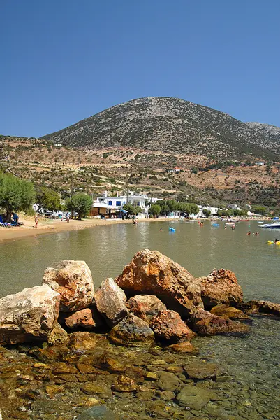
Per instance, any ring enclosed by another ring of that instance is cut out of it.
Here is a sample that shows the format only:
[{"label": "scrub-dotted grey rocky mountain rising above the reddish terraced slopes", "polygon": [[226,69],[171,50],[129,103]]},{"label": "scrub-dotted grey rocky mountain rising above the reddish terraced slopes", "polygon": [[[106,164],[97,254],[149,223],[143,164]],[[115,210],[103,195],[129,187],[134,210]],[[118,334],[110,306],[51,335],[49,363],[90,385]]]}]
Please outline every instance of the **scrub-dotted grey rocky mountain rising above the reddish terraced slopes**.
[{"label": "scrub-dotted grey rocky mountain rising above the reddish terraced slopes", "polygon": [[89,148],[142,148],[218,159],[250,154],[275,160],[280,153],[277,130],[242,123],[226,113],[183,99],[146,97],[112,106],[43,139]]}]

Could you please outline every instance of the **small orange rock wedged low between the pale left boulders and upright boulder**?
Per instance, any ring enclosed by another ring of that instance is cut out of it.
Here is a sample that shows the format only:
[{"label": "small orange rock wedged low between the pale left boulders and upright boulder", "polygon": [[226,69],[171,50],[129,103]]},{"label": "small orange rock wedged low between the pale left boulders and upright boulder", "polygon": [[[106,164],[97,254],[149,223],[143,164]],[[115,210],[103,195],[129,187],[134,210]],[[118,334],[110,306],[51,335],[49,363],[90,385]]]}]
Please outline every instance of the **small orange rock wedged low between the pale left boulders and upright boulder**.
[{"label": "small orange rock wedged low between the pale left boulders and upright boulder", "polygon": [[84,328],[85,330],[94,330],[102,325],[101,316],[90,308],[82,309],[74,312],[71,316],[65,318],[65,323],[68,328],[77,329]]}]

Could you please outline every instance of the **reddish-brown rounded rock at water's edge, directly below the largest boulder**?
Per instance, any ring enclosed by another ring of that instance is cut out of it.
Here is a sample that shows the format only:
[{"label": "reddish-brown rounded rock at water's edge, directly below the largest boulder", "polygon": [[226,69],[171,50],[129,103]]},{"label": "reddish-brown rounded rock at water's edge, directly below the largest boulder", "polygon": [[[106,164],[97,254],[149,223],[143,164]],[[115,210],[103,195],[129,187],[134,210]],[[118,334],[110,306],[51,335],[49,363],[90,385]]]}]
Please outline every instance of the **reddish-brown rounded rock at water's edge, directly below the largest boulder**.
[{"label": "reddish-brown rounded rock at water's edge, directly below the largest boulder", "polygon": [[182,321],[181,316],[175,311],[160,311],[154,316],[151,328],[156,337],[178,342],[180,339],[191,339],[194,333]]}]

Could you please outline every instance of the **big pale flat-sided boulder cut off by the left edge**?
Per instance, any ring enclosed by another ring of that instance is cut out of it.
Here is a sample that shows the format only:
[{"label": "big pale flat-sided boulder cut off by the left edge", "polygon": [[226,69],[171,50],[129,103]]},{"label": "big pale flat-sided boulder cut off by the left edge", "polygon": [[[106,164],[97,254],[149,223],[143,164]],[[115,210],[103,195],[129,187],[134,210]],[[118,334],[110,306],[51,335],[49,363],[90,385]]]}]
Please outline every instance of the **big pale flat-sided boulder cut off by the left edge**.
[{"label": "big pale flat-sided boulder cut off by the left edge", "polygon": [[46,340],[59,315],[59,293],[48,286],[27,288],[0,299],[0,344]]}]

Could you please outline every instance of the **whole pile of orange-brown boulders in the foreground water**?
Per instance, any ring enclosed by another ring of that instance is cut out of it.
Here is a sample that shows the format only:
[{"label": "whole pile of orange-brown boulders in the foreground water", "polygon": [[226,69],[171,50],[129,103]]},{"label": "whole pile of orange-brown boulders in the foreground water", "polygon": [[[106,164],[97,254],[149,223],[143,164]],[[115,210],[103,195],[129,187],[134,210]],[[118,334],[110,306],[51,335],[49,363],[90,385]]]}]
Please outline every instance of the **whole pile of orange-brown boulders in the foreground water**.
[{"label": "whole pile of orange-brown boulders in the foreground water", "polygon": [[108,332],[119,345],[158,339],[170,351],[187,353],[196,351],[189,343],[196,333],[248,333],[248,325],[234,320],[251,313],[279,316],[279,308],[263,301],[244,304],[242,288],[229,270],[214,269],[196,279],[165,255],[145,249],[115,281],[105,279],[96,291],[83,261],[63,260],[47,268],[42,286],[0,300],[0,344],[54,344],[69,339],[65,330],[87,330]]}]

